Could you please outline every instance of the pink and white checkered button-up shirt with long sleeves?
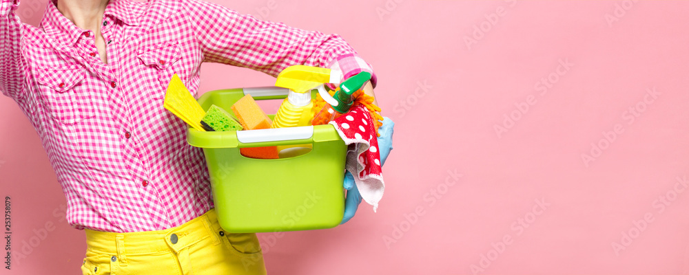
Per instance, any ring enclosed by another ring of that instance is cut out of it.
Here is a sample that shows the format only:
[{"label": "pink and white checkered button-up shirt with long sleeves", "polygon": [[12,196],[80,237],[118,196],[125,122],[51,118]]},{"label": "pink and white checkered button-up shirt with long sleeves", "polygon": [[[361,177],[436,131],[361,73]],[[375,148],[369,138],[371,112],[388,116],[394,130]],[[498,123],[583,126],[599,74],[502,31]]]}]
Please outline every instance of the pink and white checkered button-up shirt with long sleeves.
[{"label": "pink and white checkered button-up shirt with long sleeves", "polygon": [[203,62],[271,76],[297,64],[371,72],[338,35],[198,0],[111,0],[101,27],[104,64],[94,34],[55,3],[35,28],[19,21],[18,2],[0,0],[0,91],[41,137],[78,229],[163,230],[214,207],[203,151],[187,144],[187,125],[163,108],[173,74],[198,96]]}]

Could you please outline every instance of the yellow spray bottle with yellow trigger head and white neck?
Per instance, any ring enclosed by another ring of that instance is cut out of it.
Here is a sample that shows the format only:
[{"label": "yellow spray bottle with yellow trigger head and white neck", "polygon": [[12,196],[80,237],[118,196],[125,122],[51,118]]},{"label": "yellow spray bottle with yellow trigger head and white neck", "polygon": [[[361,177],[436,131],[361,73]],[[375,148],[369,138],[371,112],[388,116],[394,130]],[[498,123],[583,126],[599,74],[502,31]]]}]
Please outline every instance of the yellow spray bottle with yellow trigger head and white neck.
[{"label": "yellow spray bottle with yellow trigger head and white neck", "polygon": [[282,70],[275,85],[289,89],[289,94],[280,105],[271,128],[311,125],[311,89],[324,83],[339,83],[340,78],[342,74],[337,71],[306,65],[295,65]]}]

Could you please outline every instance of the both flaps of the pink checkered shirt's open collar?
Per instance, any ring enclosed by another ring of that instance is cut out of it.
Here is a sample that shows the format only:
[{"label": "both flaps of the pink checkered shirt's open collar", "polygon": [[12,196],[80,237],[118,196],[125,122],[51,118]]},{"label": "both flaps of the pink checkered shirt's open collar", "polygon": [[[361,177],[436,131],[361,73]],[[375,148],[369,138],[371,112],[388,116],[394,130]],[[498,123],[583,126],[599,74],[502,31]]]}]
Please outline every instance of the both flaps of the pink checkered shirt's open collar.
[{"label": "both flaps of the pink checkered shirt's open collar", "polygon": [[[110,0],[105,6],[105,15],[112,15],[116,19],[121,20],[127,25],[138,25],[136,17],[132,16],[132,12],[127,7],[125,1]],[[58,43],[66,45],[74,45],[79,40],[86,30],[83,30],[70,19],[67,19],[58,9],[56,0],[48,1],[48,6],[45,8],[45,14],[41,20],[41,26],[45,33],[58,39]]]}]

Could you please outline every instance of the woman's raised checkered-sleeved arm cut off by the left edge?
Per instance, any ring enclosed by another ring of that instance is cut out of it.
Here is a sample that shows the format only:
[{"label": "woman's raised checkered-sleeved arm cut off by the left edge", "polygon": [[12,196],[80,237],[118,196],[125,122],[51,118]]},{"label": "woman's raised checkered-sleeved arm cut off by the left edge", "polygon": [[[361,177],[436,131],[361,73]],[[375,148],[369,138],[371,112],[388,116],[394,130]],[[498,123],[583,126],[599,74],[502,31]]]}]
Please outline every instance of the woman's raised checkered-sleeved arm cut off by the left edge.
[{"label": "woman's raised checkered-sleeved arm cut off by the left edge", "polygon": [[24,63],[19,50],[21,21],[15,13],[19,0],[0,0],[0,91],[17,100],[23,96]]}]

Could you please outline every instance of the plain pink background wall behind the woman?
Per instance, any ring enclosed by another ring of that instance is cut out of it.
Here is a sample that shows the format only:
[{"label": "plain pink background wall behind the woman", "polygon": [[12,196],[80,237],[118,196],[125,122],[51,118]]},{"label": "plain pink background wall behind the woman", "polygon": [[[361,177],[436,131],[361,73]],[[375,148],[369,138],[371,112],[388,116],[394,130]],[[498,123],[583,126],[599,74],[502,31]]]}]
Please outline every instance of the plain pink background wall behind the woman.
[{"label": "plain pink background wall behind the woman", "polygon": [[[271,274],[689,272],[689,192],[676,179],[689,173],[689,2],[214,1],[341,34],[374,65],[396,122],[378,212],[260,234]],[[45,1],[22,5],[37,24]],[[200,89],[272,81],[204,65]],[[644,102],[647,89],[659,95]],[[85,238],[61,219],[38,137],[12,100],[0,117],[0,195],[12,197],[12,248],[29,252],[12,274],[78,274]]]}]

